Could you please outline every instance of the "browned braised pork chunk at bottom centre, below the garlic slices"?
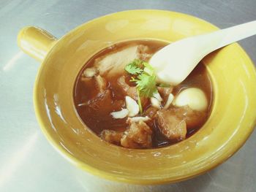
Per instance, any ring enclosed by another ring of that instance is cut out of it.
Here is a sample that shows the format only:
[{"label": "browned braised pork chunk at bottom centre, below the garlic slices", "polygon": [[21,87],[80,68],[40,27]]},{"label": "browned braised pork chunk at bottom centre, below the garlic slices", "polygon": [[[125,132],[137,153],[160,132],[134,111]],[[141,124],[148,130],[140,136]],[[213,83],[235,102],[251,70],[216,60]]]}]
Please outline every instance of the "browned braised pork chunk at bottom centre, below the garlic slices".
[{"label": "browned braised pork chunk at bottom centre, below the garlic slices", "polygon": [[127,148],[152,147],[152,130],[142,120],[133,122],[121,137],[121,146]]}]

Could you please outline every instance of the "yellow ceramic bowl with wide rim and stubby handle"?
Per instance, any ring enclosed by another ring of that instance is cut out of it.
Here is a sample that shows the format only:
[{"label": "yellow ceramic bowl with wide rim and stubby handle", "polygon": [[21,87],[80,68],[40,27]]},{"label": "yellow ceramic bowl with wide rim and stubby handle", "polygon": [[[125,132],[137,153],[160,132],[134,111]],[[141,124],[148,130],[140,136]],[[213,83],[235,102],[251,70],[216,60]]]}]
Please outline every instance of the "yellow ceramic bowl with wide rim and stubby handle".
[{"label": "yellow ceramic bowl with wide rim and stubby handle", "polygon": [[221,164],[244,144],[255,126],[255,67],[238,44],[204,58],[214,85],[211,116],[200,131],[176,145],[151,150],[110,145],[83,124],[72,96],[82,66],[105,47],[132,39],[174,42],[214,30],[217,27],[204,20],[162,10],[106,15],[78,26],[61,39],[39,28],[23,28],[18,44],[42,61],[34,107],[45,136],[72,164],[128,183],[176,182]]}]

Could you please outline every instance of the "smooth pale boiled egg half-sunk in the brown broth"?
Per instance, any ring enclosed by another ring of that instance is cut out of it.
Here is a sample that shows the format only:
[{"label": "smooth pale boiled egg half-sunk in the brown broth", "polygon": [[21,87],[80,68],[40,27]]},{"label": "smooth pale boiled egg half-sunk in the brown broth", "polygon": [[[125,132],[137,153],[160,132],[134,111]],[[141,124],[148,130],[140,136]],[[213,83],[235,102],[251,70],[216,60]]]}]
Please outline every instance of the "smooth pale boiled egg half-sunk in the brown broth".
[{"label": "smooth pale boiled egg half-sunk in the brown broth", "polygon": [[208,101],[206,94],[199,88],[187,88],[178,93],[173,104],[177,107],[188,105],[192,110],[203,111],[206,110]]}]

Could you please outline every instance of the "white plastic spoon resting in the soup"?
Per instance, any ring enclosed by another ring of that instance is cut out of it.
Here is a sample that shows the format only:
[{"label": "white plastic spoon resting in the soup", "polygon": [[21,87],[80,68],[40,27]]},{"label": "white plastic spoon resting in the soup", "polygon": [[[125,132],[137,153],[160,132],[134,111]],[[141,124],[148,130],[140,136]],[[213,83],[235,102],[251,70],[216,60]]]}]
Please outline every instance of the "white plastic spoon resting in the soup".
[{"label": "white plastic spoon resting in the soup", "polygon": [[156,71],[158,82],[178,85],[208,53],[255,34],[256,20],[188,37],[162,48],[152,56],[149,63]]}]

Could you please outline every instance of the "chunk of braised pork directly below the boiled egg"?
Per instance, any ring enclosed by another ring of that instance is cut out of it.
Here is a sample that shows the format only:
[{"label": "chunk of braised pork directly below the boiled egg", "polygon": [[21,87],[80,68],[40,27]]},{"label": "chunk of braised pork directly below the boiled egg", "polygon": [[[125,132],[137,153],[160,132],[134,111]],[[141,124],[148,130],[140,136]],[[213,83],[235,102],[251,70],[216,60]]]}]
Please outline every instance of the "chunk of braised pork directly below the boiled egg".
[{"label": "chunk of braised pork directly below the boiled egg", "polygon": [[178,118],[173,110],[159,110],[157,112],[159,130],[168,139],[183,140],[186,138],[186,121]]}]

